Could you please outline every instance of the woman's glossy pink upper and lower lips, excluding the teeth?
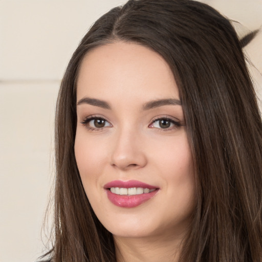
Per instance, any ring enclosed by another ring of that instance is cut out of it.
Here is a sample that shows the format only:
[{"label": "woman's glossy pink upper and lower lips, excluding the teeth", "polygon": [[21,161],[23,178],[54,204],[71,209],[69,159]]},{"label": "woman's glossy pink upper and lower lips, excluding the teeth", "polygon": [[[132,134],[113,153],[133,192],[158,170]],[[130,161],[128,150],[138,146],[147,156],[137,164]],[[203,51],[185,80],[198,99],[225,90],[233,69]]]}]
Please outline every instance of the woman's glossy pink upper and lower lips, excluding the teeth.
[{"label": "woman's glossy pink upper and lower lips, excluding the teeth", "polygon": [[[120,195],[120,194],[112,193],[110,191],[111,187],[120,187],[120,188],[142,187],[142,188],[148,188],[148,189],[155,189],[156,188],[156,190],[149,192],[149,193],[143,193],[143,194],[137,194],[137,195]],[[146,183],[143,183],[143,182],[137,181],[137,180],[128,180],[128,181],[115,180],[115,181],[111,181],[111,182],[104,185],[104,189],[106,189],[107,198],[114,205],[116,205],[118,207],[125,207],[125,208],[137,207],[137,206],[143,204],[144,202],[150,200],[159,191],[158,187],[148,185]]]}]

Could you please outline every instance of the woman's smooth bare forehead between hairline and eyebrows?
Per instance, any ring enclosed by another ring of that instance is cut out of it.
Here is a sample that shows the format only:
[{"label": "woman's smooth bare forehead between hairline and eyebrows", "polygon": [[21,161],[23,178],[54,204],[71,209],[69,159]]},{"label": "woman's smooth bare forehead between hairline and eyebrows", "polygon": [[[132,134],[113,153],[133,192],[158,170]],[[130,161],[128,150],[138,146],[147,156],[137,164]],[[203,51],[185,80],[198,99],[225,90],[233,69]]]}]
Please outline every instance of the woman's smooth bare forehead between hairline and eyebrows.
[{"label": "woman's smooth bare forehead between hairline and eyebrows", "polygon": [[84,57],[77,79],[77,99],[177,98],[167,62],[151,49],[130,42],[108,43]]}]

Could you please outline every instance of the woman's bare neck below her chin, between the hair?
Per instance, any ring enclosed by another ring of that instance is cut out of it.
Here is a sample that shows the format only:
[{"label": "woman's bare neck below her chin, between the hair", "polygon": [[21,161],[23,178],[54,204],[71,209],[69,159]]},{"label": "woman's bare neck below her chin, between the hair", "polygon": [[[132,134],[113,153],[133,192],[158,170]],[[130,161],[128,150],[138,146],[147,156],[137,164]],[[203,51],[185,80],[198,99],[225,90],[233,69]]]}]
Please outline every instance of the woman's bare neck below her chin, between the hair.
[{"label": "woman's bare neck below her chin, between the hair", "polygon": [[182,238],[125,238],[114,236],[117,262],[177,262]]}]

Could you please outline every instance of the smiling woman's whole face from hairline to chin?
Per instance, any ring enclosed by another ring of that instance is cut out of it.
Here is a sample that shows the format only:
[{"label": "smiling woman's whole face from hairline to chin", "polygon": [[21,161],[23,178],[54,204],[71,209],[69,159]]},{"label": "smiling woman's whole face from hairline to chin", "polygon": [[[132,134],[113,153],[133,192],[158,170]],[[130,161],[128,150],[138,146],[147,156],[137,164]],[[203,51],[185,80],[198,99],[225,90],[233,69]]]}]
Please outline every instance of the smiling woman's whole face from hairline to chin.
[{"label": "smiling woman's whole face from hairline to chin", "polygon": [[135,43],[90,51],[77,81],[75,156],[83,187],[114,236],[183,235],[195,183],[176,81]]}]

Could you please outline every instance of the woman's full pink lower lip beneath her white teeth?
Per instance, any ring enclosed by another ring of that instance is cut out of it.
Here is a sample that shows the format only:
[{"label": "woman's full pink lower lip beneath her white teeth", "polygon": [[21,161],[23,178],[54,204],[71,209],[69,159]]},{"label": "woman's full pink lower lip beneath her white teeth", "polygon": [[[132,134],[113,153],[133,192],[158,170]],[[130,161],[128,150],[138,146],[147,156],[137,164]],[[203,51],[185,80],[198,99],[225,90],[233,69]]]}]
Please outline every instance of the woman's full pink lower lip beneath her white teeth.
[{"label": "woman's full pink lower lip beneath her white teeth", "polygon": [[106,190],[107,198],[118,207],[137,207],[142,203],[148,201],[158,192],[159,189],[149,193],[135,194],[135,195],[121,195],[114,194],[110,190]]}]

